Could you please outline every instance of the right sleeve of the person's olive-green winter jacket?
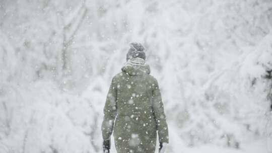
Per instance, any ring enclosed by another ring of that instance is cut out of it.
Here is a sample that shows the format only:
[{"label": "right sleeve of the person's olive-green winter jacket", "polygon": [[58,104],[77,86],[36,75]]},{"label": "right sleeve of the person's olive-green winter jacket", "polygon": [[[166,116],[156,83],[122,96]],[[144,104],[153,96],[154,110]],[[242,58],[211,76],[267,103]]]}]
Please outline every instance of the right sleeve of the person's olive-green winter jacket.
[{"label": "right sleeve of the person's olive-green winter jacket", "polygon": [[156,119],[159,142],[169,143],[168,126],[166,123],[166,116],[164,113],[161,92],[157,80],[155,80],[152,94],[153,94],[153,112]]}]

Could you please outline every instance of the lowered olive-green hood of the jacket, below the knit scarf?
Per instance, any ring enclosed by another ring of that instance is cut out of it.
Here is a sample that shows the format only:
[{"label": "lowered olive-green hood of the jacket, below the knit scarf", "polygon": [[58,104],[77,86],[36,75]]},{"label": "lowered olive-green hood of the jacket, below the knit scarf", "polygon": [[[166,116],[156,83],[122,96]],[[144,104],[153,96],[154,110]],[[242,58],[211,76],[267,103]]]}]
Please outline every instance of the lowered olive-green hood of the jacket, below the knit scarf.
[{"label": "lowered olive-green hood of the jacket, below the knit scarf", "polygon": [[124,65],[122,71],[128,73],[129,75],[144,75],[150,74],[150,67],[148,64],[144,65]]}]

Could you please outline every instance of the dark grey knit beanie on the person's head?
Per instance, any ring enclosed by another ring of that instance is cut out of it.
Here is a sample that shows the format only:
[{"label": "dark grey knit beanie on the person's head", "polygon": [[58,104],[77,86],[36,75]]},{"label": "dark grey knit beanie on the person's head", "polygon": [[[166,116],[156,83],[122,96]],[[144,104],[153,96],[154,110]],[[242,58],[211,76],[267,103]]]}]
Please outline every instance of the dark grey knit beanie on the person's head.
[{"label": "dark grey knit beanie on the person's head", "polygon": [[129,46],[130,48],[126,54],[126,60],[137,57],[146,60],[146,53],[144,52],[146,49],[141,43],[132,42]]}]

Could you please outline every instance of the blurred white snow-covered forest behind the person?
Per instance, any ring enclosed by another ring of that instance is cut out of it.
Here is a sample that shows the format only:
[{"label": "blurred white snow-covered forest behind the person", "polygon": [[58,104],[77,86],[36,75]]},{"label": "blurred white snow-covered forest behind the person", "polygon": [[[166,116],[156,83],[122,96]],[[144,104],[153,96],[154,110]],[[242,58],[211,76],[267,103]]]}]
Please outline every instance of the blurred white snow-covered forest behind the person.
[{"label": "blurred white snow-covered forest behind the person", "polygon": [[167,153],[269,152],[271,0],[1,0],[0,152],[101,152],[129,42],[162,90]]}]

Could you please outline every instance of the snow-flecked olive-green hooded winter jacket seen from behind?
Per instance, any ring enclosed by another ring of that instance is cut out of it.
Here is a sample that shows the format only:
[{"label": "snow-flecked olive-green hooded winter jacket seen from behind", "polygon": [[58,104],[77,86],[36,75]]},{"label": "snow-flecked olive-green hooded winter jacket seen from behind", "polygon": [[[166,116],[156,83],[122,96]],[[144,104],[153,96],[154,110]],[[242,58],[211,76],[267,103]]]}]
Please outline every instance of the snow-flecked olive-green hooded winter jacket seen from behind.
[{"label": "snow-flecked olive-green hooded winter jacket seen from behind", "polygon": [[157,131],[168,143],[168,127],[157,80],[149,65],[125,65],[113,77],[104,107],[103,139],[113,131],[118,153],[153,153]]}]

